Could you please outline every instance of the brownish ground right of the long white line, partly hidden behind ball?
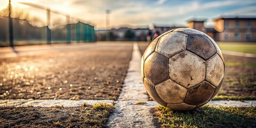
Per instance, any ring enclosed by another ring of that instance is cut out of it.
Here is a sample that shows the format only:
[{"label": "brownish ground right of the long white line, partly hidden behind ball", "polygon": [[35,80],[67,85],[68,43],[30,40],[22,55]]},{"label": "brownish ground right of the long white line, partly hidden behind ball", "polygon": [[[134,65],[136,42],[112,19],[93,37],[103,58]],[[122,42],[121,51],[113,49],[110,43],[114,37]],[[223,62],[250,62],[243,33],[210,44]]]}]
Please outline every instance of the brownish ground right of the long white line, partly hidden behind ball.
[{"label": "brownish ground right of the long white line, partly hidden behind ball", "polygon": [[[139,43],[141,54],[147,48],[146,43]],[[218,95],[254,97],[256,95],[256,59],[223,55],[225,76]]]}]

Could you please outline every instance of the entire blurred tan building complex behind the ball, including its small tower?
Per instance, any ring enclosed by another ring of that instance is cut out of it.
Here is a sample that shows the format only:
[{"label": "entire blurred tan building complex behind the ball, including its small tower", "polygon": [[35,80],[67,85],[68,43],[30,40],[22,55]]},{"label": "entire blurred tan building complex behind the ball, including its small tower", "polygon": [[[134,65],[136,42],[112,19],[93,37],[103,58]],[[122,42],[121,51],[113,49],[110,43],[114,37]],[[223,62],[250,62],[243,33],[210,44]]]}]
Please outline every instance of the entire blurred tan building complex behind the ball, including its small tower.
[{"label": "entire blurred tan building complex behind the ball, including its small tower", "polygon": [[203,31],[215,41],[255,42],[256,17],[225,15],[214,19],[213,28],[205,28],[206,19],[188,20],[188,28]]}]

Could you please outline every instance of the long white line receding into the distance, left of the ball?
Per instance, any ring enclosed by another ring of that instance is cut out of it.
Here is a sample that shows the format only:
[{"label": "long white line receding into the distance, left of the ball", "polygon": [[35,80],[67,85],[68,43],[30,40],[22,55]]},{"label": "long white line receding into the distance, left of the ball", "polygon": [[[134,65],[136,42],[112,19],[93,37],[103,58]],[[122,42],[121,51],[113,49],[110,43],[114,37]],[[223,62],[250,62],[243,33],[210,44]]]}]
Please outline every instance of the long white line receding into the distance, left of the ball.
[{"label": "long white line receding into the distance, left of the ball", "polygon": [[143,94],[145,87],[140,77],[140,59],[138,43],[133,43],[132,59],[114,113],[108,118],[108,127],[155,127],[150,113],[154,106],[136,105],[137,101],[148,100],[148,95]]}]

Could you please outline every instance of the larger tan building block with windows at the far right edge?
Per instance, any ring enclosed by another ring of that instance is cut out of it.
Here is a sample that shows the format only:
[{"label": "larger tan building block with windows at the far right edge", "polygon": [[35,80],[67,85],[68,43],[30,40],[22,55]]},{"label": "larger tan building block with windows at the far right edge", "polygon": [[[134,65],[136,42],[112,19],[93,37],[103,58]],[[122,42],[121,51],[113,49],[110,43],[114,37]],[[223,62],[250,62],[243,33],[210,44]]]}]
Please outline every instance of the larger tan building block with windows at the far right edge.
[{"label": "larger tan building block with windows at the far right edge", "polygon": [[215,19],[219,41],[256,41],[256,17],[223,16]]}]

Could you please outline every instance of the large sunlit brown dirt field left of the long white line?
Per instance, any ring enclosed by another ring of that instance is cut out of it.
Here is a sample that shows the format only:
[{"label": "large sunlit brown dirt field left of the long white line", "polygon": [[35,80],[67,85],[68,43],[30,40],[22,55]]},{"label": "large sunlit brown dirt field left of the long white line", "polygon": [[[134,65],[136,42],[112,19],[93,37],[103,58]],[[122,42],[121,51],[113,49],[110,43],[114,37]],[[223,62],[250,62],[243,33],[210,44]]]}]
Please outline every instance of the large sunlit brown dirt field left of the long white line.
[{"label": "large sunlit brown dirt field left of the long white line", "polygon": [[132,43],[102,43],[84,49],[0,58],[0,99],[115,100],[131,53]]}]

